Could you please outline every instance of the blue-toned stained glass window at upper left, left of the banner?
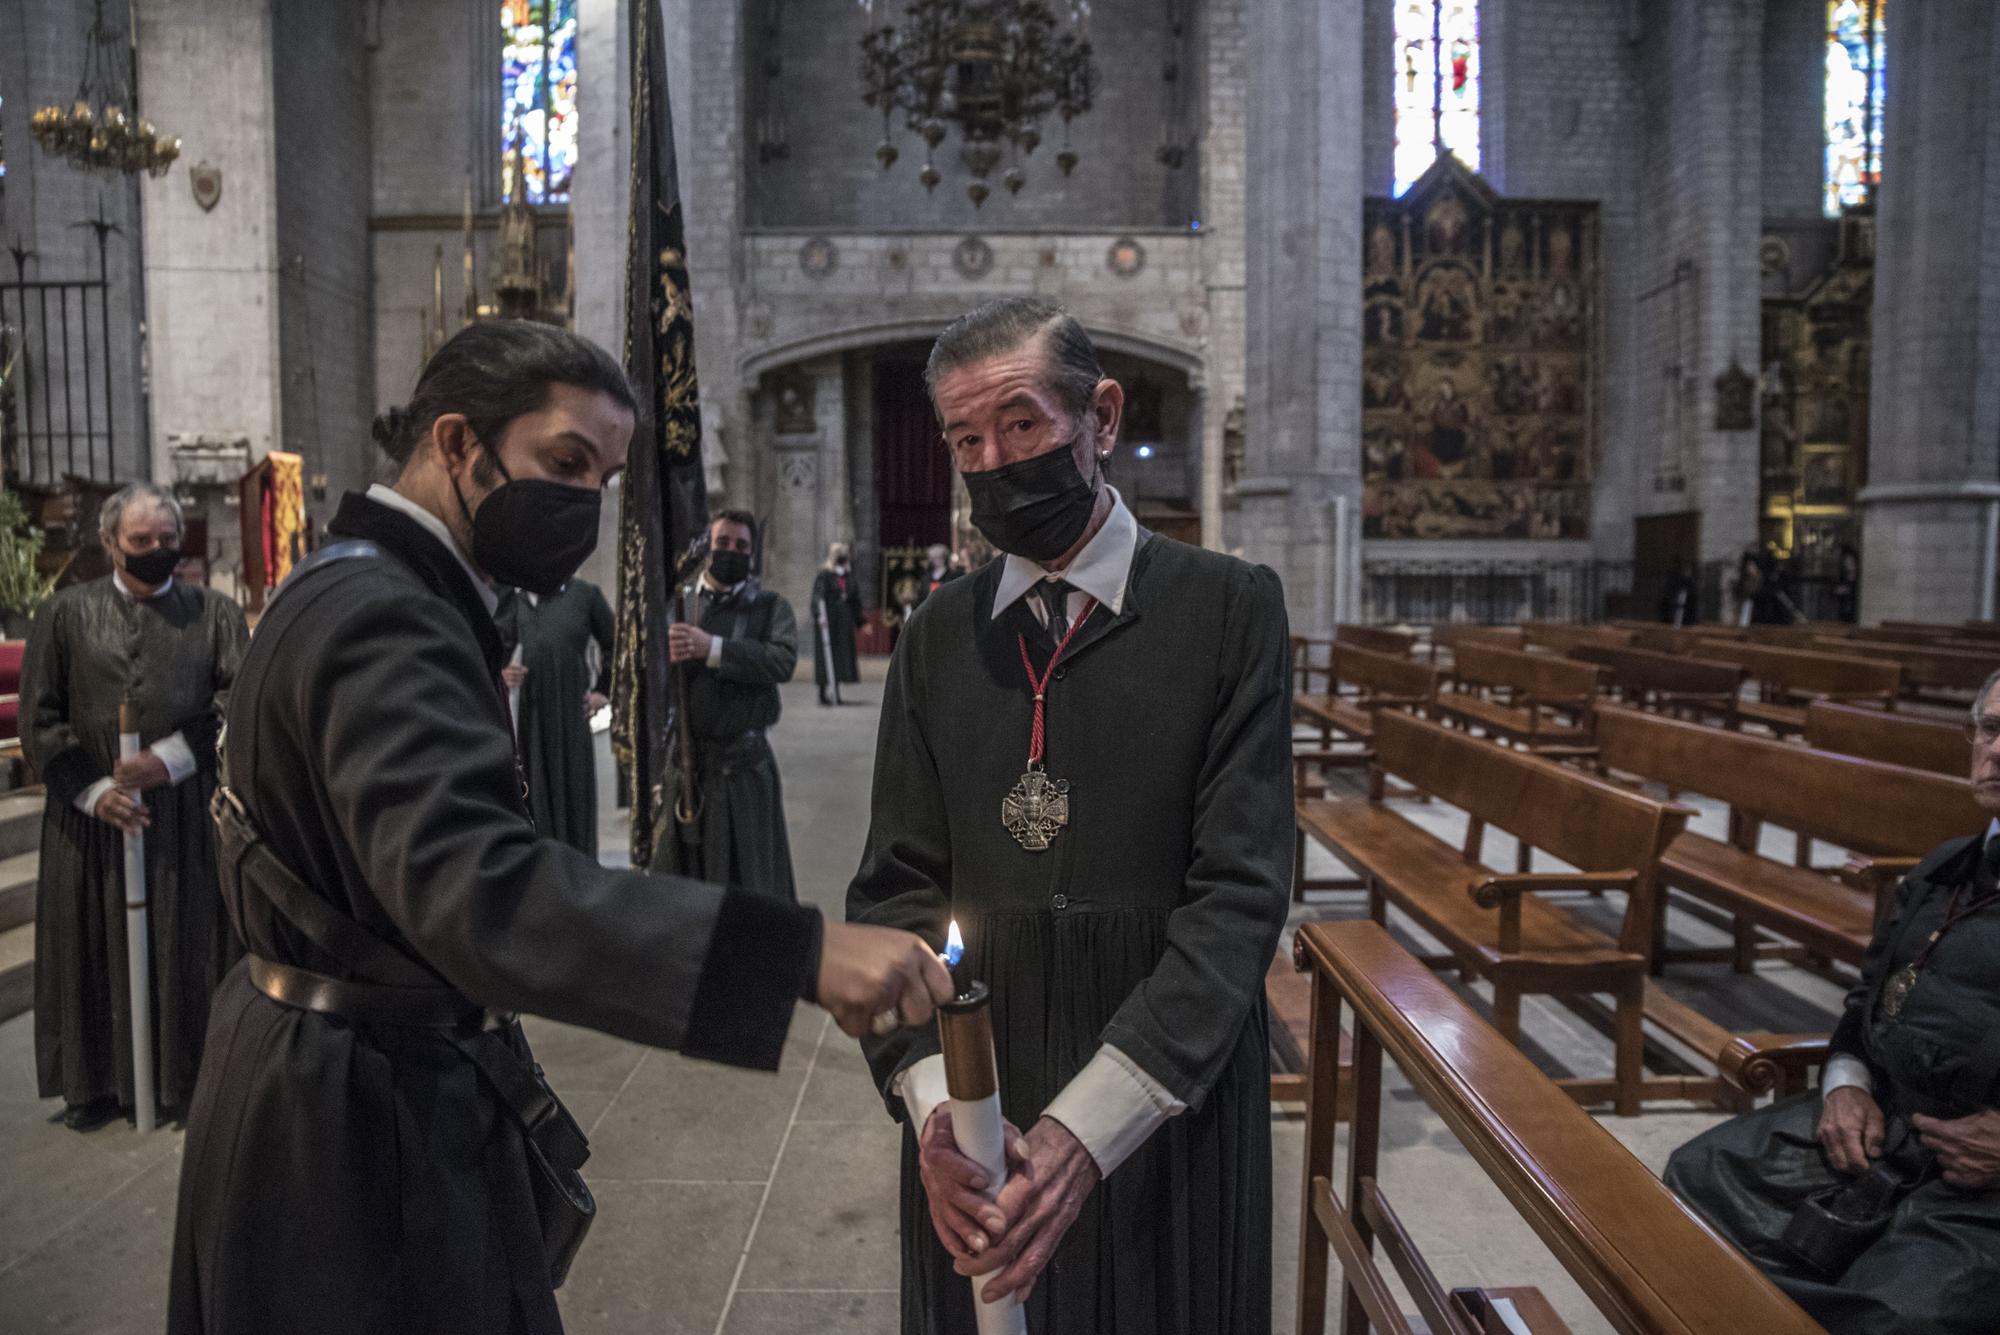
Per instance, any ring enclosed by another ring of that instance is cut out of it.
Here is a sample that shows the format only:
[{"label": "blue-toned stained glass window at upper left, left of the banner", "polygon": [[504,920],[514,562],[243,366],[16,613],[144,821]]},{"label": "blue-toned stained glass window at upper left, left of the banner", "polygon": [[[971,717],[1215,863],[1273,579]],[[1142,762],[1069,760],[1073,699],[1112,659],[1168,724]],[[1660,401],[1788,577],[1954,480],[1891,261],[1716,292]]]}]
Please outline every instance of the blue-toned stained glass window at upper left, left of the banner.
[{"label": "blue-toned stained glass window at upper left, left of the banner", "polygon": [[576,0],[500,0],[500,200],[562,204],[576,170]]}]

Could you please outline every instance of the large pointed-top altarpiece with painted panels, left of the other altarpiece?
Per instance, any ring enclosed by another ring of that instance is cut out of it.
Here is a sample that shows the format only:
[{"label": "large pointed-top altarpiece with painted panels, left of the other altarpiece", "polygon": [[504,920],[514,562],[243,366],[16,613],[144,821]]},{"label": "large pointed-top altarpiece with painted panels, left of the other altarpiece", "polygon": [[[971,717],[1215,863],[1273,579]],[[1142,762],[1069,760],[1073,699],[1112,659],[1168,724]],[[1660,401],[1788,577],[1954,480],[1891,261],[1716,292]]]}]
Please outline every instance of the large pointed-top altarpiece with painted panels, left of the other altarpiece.
[{"label": "large pointed-top altarpiece with painted panels, left of the other altarpiece", "polygon": [[1364,536],[1588,536],[1596,206],[1444,156],[1362,214]]}]

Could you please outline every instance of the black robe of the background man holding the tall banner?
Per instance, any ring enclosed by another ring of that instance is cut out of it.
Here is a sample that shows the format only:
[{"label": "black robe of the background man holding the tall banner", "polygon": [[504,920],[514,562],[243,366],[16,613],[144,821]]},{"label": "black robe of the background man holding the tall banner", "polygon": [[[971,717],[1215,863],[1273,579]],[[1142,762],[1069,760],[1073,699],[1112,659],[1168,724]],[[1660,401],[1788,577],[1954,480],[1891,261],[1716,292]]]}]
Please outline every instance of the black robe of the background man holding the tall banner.
[{"label": "black robe of the background man holding the tall banner", "polygon": [[778,683],[798,668],[798,618],[778,594],[746,582],[704,598],[700,626],[722,636],[722,664],[682,664],[702,815],[694,839],[672,819],[678,775],[666,775],[666,829],[654,839],[658,871],[742,885],[798,899],[784,831],[784,783],[764,735],[778,721]]}]

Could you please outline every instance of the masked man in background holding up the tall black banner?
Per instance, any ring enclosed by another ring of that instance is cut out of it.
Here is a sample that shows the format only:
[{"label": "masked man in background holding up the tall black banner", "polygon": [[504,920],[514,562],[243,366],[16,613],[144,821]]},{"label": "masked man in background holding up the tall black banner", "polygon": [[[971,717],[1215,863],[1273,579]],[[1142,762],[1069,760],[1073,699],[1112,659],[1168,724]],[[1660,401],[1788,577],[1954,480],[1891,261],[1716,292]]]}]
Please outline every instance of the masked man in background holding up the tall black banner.
[{"label": "masked man in background holding up the tall black banner", "polygon": [[[708,570],[688,600],[694,622],[666,632],[676,671],[688,673],[700,813],[692,827],[674,821],[660,869],[796,901],[784,787],[764,733],[778,721],[778,683],[798,666],[798,620],[792,604],[758,586],[754,554],[756,520],[744,510],[718,514],[708,524]],[[674,789],[670,773],[668,809]]]}]

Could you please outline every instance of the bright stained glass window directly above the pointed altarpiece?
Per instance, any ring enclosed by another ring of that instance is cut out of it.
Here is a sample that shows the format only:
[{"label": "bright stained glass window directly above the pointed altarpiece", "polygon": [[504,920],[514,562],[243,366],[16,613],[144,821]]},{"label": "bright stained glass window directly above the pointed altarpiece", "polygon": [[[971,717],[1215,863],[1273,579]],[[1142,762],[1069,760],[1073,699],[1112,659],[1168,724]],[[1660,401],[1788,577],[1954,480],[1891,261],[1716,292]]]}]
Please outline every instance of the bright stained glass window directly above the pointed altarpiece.
[{"label": "bright stained glass window directly above the pointed altarpiece", "polygon": [[1480,170],[1480,4],[1396,0],[1396,194],[1440,152]]}]

